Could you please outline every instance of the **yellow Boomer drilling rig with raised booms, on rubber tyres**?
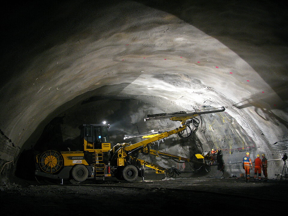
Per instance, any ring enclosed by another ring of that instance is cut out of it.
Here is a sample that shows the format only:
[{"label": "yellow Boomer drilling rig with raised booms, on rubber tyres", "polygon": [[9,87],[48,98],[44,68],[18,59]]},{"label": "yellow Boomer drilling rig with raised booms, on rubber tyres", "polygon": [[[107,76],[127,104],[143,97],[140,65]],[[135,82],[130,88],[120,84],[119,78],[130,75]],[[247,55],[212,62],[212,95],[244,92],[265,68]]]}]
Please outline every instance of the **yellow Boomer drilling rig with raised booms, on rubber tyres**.
[{"label": "yellow Boomer drilling rig with raised booms, on rubber tyres", "polygon": [[[47,150],[36,155],[36,176],[43,176],[50,179],[69,179],[71,183],[77,184],[86,179],[102,179],[106,177],[116,177],[128,182],[134,182],[138,176],[144,177],[145,167],[155,170],[155,173],[164,173],[168,177],[179,175],[179,171],[172,168],[160,167],[157,164],[138,158],[139,152],[143,155],[155,155],[165,159],[172,159],[176,162],[189,162],[199,164],[210,171],[211,156],[208,152],[196,154],[196,158],[203,159],[202,162],[160,152],[150,148],[151,144],[177,134],[182,139],[189,138],[199,125],[199,120],[195,117],[201,114],[223,112],[224,107],[212,108],[196,111],[180,111],[176,113],[159,113],[147,115],[144,121],[157,119],[170,119],[179,121],[178,128],[165,129],[161,131],[149,131],[142,134],[125,135],[124,140],[134,137],[142,137],[138,143],[118,143],[111,148],[107,124],[83,124],[79,126],[81,130],[81,142],[83,151],[57,152]],[[191,128],[192,127],[192,128]],[[184,137],[183,133],[187,128],[190,134]]]}]

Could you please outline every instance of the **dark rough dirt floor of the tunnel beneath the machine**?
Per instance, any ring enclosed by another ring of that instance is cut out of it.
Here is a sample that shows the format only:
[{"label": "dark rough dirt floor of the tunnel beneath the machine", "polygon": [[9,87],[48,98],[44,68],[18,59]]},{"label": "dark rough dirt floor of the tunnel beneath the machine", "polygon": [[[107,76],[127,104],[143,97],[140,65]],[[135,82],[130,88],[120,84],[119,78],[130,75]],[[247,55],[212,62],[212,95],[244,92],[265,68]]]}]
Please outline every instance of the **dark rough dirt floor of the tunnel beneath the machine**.
[{"label": "dark rough dirt floor of the tunnel beneath the machine", "polygon": [[0,199],[3,215],[280,215],[288,204],[287,188],[283,179],[247,183],[235,177],[139,178],[134,183],[10,184],[0,187]]}]

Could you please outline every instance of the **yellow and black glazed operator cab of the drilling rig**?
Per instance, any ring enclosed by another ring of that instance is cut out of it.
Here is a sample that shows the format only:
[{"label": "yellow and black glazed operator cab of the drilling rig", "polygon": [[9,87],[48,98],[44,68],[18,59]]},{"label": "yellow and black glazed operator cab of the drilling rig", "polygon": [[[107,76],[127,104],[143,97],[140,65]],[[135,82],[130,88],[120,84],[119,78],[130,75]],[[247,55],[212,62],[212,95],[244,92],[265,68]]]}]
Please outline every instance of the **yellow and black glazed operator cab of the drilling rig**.
[{"label": "yellow and black glazed operator cab of the drilling rig", "polygon": [[83,124],[81,129],[81,139],[83,140],[84,151],[93,149],[110,150],[111,143],[107,124]]}]

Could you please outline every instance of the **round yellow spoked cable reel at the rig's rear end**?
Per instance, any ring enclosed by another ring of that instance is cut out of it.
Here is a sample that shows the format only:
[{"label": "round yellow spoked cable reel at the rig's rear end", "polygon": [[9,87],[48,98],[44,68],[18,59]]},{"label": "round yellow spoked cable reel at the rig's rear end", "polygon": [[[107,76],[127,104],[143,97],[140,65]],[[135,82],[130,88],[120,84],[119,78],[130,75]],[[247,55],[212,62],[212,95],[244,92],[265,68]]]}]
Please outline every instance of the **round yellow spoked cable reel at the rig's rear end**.
[{"label": "round yellow spoked cable reel at the rig's rear end", "polygon": [[48,150],[39,157],[39,167],[45,173],[56,173],[63,165],[63,158],[59,152]]}]

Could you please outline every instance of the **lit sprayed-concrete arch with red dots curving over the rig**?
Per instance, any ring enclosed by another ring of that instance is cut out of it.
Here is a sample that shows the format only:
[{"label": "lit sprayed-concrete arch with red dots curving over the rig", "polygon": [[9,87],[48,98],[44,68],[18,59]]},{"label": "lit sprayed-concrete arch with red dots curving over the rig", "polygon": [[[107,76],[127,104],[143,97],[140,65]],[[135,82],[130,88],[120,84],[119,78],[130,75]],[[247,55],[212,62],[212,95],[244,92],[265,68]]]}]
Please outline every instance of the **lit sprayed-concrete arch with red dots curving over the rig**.
[{"label": "lit sprayed-concrete arch with red dots curving over the rig", "polygon": [[[88,11],[90,5],[81,6],[80,11]],[[75,10],[71,6],[64,18],[57,15],[48,23],[69,19]],[[2,164],[35,143],[41,129],[67,108],[99,98],[137,100],[165,112],[225,106],[253,140],[254,157],[256,152],[271,160],[280,157],[283,151],[273,144],[287,145],[286,103],[238,53],[157,7],[127,1],[95,11],[82,14],[80,22],[73,18],[59,24],[45,40],[37,36],[25,52],[29,63],[23,59],[14,65],[13,78],[1,88],[0,128],[14,145],[5,141],[2,146],[17,150],[2,153]],[[271,169],[278,167],[273,163]]]}]

